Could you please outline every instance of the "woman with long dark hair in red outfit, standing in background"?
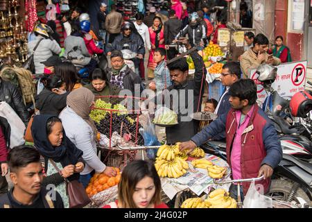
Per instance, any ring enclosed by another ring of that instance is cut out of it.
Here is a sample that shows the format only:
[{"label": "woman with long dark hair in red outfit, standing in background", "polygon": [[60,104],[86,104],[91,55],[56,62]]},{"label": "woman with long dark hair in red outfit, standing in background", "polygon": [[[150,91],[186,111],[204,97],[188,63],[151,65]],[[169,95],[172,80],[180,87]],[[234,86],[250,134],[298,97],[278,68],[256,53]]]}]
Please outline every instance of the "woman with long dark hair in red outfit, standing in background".
[{"label": "woman with long dark hair in red outfit, standing in background", "polygon": [[158,16],[155,16],[153,19],[153,26],[148,28],[148,31],[150,33],[150,44],[152,45],[150,56],[148,58],[148,78],[154,78],[154,70],[157,66],[157,63],[153,60],[155,49],[165,48],[164,27],[162,24],[162,19]]}]

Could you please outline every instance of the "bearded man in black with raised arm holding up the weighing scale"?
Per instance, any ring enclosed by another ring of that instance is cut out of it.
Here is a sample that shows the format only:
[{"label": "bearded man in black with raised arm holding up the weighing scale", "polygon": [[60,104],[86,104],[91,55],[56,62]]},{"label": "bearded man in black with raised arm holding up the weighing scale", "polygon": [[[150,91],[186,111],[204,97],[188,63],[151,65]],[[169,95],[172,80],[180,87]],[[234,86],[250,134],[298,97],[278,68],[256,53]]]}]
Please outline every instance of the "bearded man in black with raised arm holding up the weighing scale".
[{"label": "bearded man in black with raised arm holding up the weighing scale", "polygon": [[[191,44],[189,44],[186,38],[181,37],[178,41],[182,42],[188,50],[191,49]],[[198,121],[189,117],[191,114],[189,111],[197,112],[198,108],[200,109],[201,107],[202,95],[204,94],[203,81],[205,80],[207,70],[202,69],[205,65],[198,51],[193,51],[190,55],[195,65],[194,78],[191,80],[188,79],[189,65],[187,64],[186,58],[181,58],[168,64],[173,85],[168,87],[167,92],[170,92],[170,94],[172,92],[177,92],[177,98],[173,95],[171,101],[173,103],[179,101],[178,110],[175,110],[177,111],[179,123],[175,126],[166,127],[166,139],[168,144],[188,141],[198,130]]]}]

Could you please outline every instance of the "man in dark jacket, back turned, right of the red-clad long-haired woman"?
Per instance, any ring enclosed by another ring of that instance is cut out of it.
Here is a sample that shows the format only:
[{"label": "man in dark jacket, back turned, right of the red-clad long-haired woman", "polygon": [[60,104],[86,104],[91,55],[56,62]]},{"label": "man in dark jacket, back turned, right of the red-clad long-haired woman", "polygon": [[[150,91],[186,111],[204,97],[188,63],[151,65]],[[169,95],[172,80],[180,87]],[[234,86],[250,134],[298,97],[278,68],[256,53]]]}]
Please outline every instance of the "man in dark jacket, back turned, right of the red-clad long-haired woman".
[{"label": "man in dark jacket, back turned, right of the red-clad long-haired woman", "polygon": [[173,40],[175,40],[175,36],[179,34],[181,28],[182,22],[175,16],[175,10],[170,10],[169,19],[164,23],[164,40],[168,60],[175,58],[175,56],[177,55],[177,49],[175,49],[174,47],[169,48],[168,44],[171,44]]}]

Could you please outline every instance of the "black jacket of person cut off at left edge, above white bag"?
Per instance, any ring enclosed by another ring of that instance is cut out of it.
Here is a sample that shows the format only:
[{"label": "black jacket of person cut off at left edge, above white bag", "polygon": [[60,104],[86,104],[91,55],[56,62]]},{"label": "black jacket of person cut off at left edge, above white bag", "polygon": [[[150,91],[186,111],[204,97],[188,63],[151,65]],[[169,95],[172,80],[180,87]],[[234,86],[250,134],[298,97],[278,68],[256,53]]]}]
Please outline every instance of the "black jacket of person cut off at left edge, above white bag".
[{"label": "black jacket of person cut off at left edge, above white bag", "polygon": [[17,113],[24,123],[29,121],[29,113],[26,110],[21,92],[19,89],[12,85],[12,83],[4,81],[0,78],[0,101],[6,101],[8,105]]}]

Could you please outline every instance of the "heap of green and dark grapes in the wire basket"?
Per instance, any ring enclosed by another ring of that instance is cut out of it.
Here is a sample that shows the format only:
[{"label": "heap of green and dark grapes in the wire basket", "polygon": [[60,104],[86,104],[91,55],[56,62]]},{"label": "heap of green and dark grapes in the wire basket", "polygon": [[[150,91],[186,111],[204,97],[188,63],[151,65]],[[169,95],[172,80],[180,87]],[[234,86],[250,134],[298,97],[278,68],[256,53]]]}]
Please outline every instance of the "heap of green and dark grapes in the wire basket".
[{"label": "heap of green and dark grapes in the wire basket", "polygon": [[[119,110],[118,112],[112,113],[112,133],[120,133],[121,123],[123,123],[123,133],[131,133],[131,140],[132,142],[135,142],[135,135],[137,131],[137,114],[128,114],[127,108],[125,108],[123,105],[116,104],[112,107],[111,103],[105,103],[105,101],[102,101],[101,99],[96,100],[95,108]],[[110,137],[110,112],[94,109],[91,111],[89,116],[96,122],[96,128],[98,132],[106,135],[107,137]],[[141,125],[139,124],[139,128],[140,127]],[[139,133],[137,134],[137,144],[144,144],[144,138]]]}]

